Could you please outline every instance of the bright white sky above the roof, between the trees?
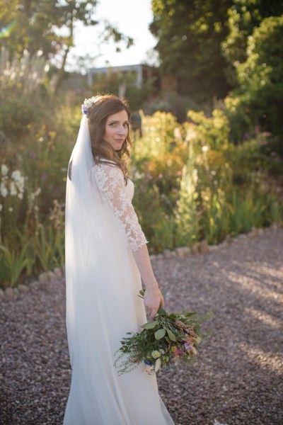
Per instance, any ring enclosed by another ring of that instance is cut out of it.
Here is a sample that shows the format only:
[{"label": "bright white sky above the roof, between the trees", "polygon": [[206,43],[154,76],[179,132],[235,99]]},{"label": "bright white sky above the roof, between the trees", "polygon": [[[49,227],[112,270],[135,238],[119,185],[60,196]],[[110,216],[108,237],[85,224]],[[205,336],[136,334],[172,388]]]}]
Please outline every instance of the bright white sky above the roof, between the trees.
[{"label": "bright white sky above the roof, between the trees", "polygon": [[[75,47],[67,60],[67,71],[74,70],[78,56],[83,57],[86,67],[140,64],[146,60],[146,52],[156,45],[156,39],[149,31],[149,24],[153,20],[151,0],[100,0],[95,19],[101,22],[107,19],[115,28],[132,37],[134,45],[127,49],[121,42],[121,52],[115,52],[114,42],[100,41],[103,31],[101,24],[93,27],[78,24],[74,31]],[[151,62],[147,60],[147,63]]]}]

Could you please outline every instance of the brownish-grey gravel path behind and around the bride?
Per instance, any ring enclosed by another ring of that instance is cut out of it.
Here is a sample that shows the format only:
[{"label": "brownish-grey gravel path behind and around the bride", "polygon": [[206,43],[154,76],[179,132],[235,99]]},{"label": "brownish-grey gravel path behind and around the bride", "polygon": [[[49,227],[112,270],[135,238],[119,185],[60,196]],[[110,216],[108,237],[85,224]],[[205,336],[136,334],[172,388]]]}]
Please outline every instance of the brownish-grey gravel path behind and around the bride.
[{"label": "brownish-grey gravel path behind and around the bride", "polygon": [[[270,228],[209,254],[153,261],[169,311],[214,312],[200,361],[158,375],[176,425],[283,424],[282,253],[283,229]],[[0,424],[62,424],[64,308],[64,280],[0,300]]]}]

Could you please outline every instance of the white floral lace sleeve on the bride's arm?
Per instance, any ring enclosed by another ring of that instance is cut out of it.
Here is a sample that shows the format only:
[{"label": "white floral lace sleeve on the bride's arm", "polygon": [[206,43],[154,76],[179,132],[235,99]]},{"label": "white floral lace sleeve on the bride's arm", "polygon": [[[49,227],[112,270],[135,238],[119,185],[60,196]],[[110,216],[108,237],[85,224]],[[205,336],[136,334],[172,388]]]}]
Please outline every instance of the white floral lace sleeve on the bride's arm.
[{"label": "white floral lace sleeve on the bride's arm", "polygon": [[95,172],[95,179],[100,196],[109,203],[116,219],[124,229],[129,249],[137,251],[147,241],[127,194],[122,171],[117,166],[99,164]]}]

